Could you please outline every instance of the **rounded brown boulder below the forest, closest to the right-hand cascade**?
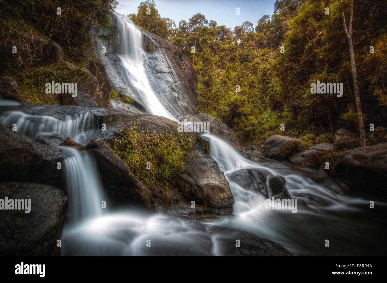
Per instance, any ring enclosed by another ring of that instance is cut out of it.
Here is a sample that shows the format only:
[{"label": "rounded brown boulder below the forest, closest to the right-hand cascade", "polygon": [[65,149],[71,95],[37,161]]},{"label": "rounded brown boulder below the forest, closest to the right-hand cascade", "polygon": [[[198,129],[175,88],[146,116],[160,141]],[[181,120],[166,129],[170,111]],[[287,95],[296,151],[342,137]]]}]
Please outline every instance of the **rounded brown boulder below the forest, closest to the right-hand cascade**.
[{"label": "rounded brown boulder below the forest, closest to the right-hand cascade", "polygon": [[276,160],[286,159],[301,140],[290,136],[273,135],[266,139],[264,156]]}]

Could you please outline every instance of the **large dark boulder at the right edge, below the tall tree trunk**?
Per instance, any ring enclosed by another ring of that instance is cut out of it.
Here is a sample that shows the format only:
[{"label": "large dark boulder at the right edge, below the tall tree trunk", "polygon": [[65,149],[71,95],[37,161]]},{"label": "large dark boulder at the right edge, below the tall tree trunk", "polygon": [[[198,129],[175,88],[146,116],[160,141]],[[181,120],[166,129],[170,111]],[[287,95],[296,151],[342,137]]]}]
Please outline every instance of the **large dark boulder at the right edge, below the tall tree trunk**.
[{"label": "large dark boulder at the right edge, below the tall tree trunk", "polygon": [[387,182],[387,143],[340,153],[329,173],[351,189],[384,193]]}]

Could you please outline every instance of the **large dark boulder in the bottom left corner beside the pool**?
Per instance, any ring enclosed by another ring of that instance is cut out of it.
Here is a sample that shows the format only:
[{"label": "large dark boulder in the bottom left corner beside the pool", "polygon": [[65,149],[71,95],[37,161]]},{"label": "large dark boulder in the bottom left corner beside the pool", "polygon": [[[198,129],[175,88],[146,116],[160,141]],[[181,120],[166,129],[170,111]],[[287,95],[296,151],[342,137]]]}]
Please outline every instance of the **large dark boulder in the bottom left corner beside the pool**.
[{"label": "large dark boulder in the bottom left corner beside the pool", "polygon": [[[0,199],[31,199],[29,213],[0,210],[0,256],[60,256],[67,196],[51,186],[0,182]],[[28,201],[27,201],[28,205]]]}]

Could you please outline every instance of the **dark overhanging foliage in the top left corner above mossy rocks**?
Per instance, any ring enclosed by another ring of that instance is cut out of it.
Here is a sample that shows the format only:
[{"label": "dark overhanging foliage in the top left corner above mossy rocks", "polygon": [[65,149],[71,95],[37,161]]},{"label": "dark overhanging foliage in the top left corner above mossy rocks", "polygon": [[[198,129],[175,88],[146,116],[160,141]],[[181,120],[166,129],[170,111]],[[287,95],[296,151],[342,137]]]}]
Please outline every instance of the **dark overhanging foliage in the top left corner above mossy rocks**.
[{"label": "dark overhanging foliage in the top left corner above mossy rocks", "polygon": [[[116,5],[116,0],[0,1],[0,73],[26,71],[32,66],[25,55],[32,51],[27,50],[31,45],[26,42],[33,41],[34,35],[57,42],[67,60],[82,61],[93,56],[90,27],[96,23],[106,27]],[[17,46],[17,54],[12,53],[12,46]]]}]

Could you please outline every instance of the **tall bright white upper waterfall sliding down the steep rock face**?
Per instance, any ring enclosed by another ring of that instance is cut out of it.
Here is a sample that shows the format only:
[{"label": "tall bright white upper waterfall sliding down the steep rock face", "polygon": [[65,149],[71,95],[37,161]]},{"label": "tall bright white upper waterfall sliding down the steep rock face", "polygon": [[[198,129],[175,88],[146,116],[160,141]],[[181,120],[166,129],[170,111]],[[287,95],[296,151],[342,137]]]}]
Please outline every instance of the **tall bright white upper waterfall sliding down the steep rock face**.
[{"label": "tall bright white upper waterfall sliding down the steep rock face", "polygon": [[117,17],[117,40],[118,53],[123,70],[123,79],[132,85],[146,105],[149,114],[164,116],[176,120],[176,118],[165,109],[154,93],[146,73],[148,58],[144,50],[144,34],[125,15],[115,12]]}]

